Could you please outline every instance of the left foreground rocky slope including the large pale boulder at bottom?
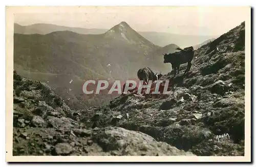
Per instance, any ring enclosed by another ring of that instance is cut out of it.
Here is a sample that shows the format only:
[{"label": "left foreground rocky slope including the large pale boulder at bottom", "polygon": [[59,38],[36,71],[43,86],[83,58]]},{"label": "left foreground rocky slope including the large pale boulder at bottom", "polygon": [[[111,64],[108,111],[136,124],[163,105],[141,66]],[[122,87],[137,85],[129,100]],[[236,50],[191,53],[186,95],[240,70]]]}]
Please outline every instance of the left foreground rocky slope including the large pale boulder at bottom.
[{"label": "left foreground rocky slope including the large pale boulder at bottom", "polygon": [[[193,155],[121,127],[87,127],[44,83],[14,71],[13,155]],[[86,122],[90,121],[86,120]]]}]

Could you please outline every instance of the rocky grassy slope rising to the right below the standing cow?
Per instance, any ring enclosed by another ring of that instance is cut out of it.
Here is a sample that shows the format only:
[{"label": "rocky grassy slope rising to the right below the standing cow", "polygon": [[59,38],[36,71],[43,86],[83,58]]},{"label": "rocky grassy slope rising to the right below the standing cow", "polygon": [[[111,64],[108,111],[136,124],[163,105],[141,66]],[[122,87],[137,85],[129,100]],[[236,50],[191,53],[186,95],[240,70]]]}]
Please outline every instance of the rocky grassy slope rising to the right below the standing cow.
[{"label": "rocky grassy slope rising to the right below the standing cow", "polygon": [[197,49],[185,77],[186,65],[176,77],[161,77],[170,80],[170,94],[122,95],[79,119],[97,118],[89,127],[140,131],[198,156],[244,156],[244,37],[243,22]]}]

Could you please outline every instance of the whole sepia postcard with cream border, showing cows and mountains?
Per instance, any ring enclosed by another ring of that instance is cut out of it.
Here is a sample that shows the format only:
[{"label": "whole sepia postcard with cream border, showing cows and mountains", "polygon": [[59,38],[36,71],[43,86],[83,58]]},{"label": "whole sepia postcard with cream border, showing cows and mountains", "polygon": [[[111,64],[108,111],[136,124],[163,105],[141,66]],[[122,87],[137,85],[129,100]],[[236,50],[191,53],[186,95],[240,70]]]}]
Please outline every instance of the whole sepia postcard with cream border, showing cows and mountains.
[{"label": "whole sepia postcard with cream border, showing cows and mountains", "polygon": [[251,160],[249,6],[6,7],[6,48],[7,161]]}]

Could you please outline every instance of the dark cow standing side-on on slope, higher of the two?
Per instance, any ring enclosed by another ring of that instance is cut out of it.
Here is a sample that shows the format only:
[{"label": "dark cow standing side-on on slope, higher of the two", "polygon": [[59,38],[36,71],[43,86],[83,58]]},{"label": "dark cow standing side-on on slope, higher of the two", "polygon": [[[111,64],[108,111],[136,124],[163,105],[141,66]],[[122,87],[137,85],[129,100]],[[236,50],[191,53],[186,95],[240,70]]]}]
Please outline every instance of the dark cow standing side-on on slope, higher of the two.
[{"label": "dark cow standing side-on on slope, higher of the two", "polygon": [[176,51],[174,53],[166,54],[164,53],[164,62],[172,64],[172,69],[174,70],[174,76],[176,76],[177,70],[180,72],[180,65],[187,63],[187,69],[183,75],[185,75],[191,68],[191,61],[194,58],[195,50],[193,46],[186,47],[184,49],[177,48],[181,51]]}]

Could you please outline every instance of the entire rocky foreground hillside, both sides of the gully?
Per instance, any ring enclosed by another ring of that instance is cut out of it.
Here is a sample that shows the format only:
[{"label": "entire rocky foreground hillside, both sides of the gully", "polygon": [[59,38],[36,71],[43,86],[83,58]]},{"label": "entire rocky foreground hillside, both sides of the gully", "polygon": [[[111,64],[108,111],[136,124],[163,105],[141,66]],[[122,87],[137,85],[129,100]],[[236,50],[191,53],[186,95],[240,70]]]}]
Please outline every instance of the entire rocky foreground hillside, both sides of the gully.
[{"label": "entire rocky foreground hillside, both sides of the gully", "polygon": [[197,49],[186,76],[184,64],[161,78],[170,94],[130,93],[83,110],[14,73],[13,154],[243,156],[244,40],[243,22]]}]

